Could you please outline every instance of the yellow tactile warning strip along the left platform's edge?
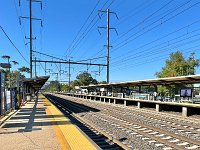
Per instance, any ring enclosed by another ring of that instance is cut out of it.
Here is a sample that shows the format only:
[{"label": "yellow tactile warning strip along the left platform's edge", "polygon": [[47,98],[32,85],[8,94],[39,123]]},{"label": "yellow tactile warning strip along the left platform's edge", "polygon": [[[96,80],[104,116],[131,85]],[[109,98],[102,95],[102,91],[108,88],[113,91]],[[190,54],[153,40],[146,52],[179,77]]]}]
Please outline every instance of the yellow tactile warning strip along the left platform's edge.
[{"label": "yellow tactile warning strip along the left platform's edge", "polygon": [[[75,126],[62,112],[56,108],[45,96],[43,100],[46,103],[47,112],[50,115],[59,115],[61,117],[54,117],[54,130],[56,136],[63,150],[96,150],[97,148],[91,143],[89,139]],[[59,121],[62,121],[60,124]]]}]

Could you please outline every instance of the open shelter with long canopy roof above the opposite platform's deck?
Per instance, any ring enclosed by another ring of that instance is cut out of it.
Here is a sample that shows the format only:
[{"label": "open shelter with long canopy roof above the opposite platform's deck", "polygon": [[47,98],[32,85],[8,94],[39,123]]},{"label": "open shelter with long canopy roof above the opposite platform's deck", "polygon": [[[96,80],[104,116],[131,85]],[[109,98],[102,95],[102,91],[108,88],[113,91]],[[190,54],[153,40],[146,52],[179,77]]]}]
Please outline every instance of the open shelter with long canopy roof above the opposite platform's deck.
[{"label": "open shelter with long canopy roof above the opposite platform's deck", "polygon": [[[169,101],[167,95],[161,95],[158,93],[158,86],[176,86],[178,88],[174,89],[175,95],[173,100],[193,100],[198,95],[194,93],[194,84],[200,83],[200,75],[190,75],[190,76],[179,76],[179,77],[169,77],[169,78],[158,78],[158,79],[147,79],[147,80],[137,80],[128,82],[118,82],[110,84],[98,84],[81,86],[82,89],[87,89],[88,94],[101,95],[101,96],[113,96],[119,98],[132,98],[132,99],[143,99],[143,100],[165,100]],[[188,91],[189,95],[181,95],[181,91]],[[84,92],[83,92],[84,93]],[[164,97],[165,96],[165,97]]]}]

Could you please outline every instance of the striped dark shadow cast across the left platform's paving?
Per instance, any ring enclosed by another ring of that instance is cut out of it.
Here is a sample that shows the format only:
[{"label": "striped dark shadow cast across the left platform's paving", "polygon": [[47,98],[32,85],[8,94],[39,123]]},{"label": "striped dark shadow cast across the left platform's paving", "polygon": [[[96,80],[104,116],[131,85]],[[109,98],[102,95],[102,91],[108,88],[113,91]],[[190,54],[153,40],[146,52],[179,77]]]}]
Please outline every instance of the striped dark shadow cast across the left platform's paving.
[{"label": "striped dark shadow cast across the left platform's paving", "polygon": [[[42,130],[40,127],[54,126],[54,125],[67,125],[71,124],[69,121],[62,121],[63,115],[47,115],[46,108],[37,108],[40,100],[34,102],[28,102],[26,105],[34,104],[33,108],[21,108],[19,112],[2,126],[2,132],[0,134],[11,134],[17,132],[32,132],[35,130]],[[54,120],[55,119],[55,120]],[[18,129],[15,132],[4,132],[7,129]]]}]

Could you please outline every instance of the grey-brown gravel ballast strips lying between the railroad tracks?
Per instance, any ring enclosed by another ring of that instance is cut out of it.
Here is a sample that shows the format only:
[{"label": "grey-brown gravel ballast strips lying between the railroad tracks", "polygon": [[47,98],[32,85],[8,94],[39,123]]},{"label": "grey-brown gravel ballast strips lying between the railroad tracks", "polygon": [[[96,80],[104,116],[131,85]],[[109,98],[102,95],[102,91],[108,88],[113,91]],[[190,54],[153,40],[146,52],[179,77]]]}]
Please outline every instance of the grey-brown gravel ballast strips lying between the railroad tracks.
[{"label": "grey-brown gravel ballast strips lying between the railroad tracks", "polygon": [[[154,118],[156,117],[156,115],[155,116],[152,115],[153,113],[152,114],[142,113],[141,115],[138,115],[138,111],[134,111],[134,108],[133,109],[124,109],[125,107],[122,108],[122,107],[116,107],[114,105],[105,105],[103,103],[91,102],[91,101],[87,101],[87,100],[70,98],[70,97],[60,96],[60,95],[56,95],[56,96],[59,96],[61,98],[67,98],[70,101],[75,101],[80,104],[84,104],[86,106],[99,109],[100,112],[79,113],[79,115],[82,116],[82,118],[87,120],[88,122],[95,124],[97,127],[104,130],[106,133],[112,135],[115,139],[123,141],[123,143],[125,143],[131,149],[160,150],[160,149],[163,149],[165,146],[164,145],[156,146],[154,142],[149,142],[148,140],[145,140],[144,136],[142,136],[142,135],[138,136],[138,134],[134,134],[133,131],[130,131],[128,129],[118,128],[117,126],[111,125],[111,123],[105,121],[104,119],[100,119],[101,117],[99,117],[99,116],[102,113],[108,114],[108,116],[109,116],[109,111],[104,110],[104,107],[110,108],[112,110],[117,110],[117,111],[115,111],[115,115],[123,117],[124,119],[130,120],[130,121],[131,120],[137,121],[139,123],[142,123],[142,124],[145,124],[145,125],[148,125],[151,127],[156,127],[158,129],[165,130],[167,132],[176,133],[178,135],[182,135],[187,138],[190,138],[190,139],[193,139],[196,141],[200,141],[200,131],[194,132],[194,134],[193,133],[191,134],[190,132],[187,133],[187,132],[178,130],[177,128],[174,128],[170,124],[163,126],[162,122],[158,121],[158,120],[160,120],[159,117],[157,120],[153,120],[153,119],[149,118],[149,116],[152,116]],[[110,113],[113,113],[113,112],[110,112]],[[177,115],[177,118],[180,118],[180,116]],[[177,121],[176,118],[173,118],[173,117],[170,118],[169,116],[163,116],[162,119],[163,120],[171,119],[171,121],[173,121],[173,122]],[[194,126],[194,128],[196,128],[197,126],[200,125],[200,122],[191,123],[189,121],[188,122],[180,121],[179,124],[182,124],[182,126],[190,125],[190,126]],[[200,126],[199,126],[199,128],[200,128]],[[187,129],[185,129],[185,130],[187,130]],[[133,134],[130,134],[130,133],[133,133]]]}]

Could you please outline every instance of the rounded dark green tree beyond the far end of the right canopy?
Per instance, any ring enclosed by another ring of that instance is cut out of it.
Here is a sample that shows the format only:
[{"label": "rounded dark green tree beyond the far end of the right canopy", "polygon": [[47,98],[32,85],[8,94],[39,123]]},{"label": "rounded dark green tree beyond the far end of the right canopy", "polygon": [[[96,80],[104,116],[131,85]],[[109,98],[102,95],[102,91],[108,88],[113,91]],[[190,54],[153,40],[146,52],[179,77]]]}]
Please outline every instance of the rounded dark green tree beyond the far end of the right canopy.
[{"label": "rounded dark green tree beyond the far end of the right canopy", "polygon": [[97,84],[97,80],[93,79],[91,74],[88,72],[83,72],[76,77],[79,86],[87,86],[90,84]]}]

